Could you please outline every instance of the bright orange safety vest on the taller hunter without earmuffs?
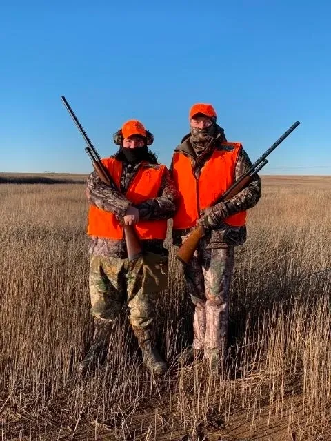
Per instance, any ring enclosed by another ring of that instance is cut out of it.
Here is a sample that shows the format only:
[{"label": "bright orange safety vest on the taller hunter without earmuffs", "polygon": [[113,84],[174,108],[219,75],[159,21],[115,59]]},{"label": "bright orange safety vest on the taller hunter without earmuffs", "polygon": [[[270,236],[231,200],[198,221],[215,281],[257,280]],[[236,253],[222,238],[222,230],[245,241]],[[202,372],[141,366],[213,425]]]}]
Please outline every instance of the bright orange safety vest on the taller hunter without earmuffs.
[{"label": "bright orange safety vest on the taller hunter without earmuffs", "polygon": [[[217,199],[234,183],[235,168],[241,143],[222,143],[223,150],[215,149],[203,165],[199,178],[195,178],[191,159],[175,152],[172,177],[179,191],[174,229],[193,227],[201,210],[214,205]],[[245,225],[246,212],[229,216],[224,221],[233,227]]]}]

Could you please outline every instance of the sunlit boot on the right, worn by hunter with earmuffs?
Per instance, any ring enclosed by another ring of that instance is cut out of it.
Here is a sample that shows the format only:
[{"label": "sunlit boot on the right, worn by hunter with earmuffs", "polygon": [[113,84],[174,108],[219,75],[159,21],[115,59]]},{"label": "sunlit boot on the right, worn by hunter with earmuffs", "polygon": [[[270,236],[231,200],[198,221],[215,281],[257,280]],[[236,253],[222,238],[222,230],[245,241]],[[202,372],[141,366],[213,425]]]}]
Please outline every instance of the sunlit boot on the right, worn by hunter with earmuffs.
[{"label": "sunlit boot on the right, worn by hunter with earmuffs", "polygon": [[134,335],[138,338],[139,347],[143,355],[143,364],[154,375],[163,375],[167,370],[155,342],[154,330],[152,328],[142,329],[132,326]]}]

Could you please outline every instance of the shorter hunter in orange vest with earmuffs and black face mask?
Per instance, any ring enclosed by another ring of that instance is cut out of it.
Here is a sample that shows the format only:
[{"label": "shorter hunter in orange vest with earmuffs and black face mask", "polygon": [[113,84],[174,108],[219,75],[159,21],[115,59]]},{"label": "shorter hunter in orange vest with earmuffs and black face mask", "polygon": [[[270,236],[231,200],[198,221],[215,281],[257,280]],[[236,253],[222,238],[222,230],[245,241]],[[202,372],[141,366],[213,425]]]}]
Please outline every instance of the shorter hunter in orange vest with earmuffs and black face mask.
[{"label": "shorter hunter in orange vest with earmuffs and black face mask", "polygon": [[[148,277],[153,269],[161,267],[165,274],[162,278],[166,278],[168,251],[163,240],[167,220],[176,209],[177,190],[167,168],[148,149],[152,142],[152,134],[139,121],[127,121],[114,134],[119,150],[102,160],[114,186],[103,183],[96,172],[88,177],[94,337],[79,364],[81,372],[105,359],[112,322],[124,302],[130,310],[129,320],[144,364],[154,374],[165,372],[165,362],[156,348],[154,325],[154,305],[164,286],[155,287]],[[123,225],[132,225],[143,248],[143,256],[133,261],[128,260]],[[155,280],[159,280],[156,275]]]}]

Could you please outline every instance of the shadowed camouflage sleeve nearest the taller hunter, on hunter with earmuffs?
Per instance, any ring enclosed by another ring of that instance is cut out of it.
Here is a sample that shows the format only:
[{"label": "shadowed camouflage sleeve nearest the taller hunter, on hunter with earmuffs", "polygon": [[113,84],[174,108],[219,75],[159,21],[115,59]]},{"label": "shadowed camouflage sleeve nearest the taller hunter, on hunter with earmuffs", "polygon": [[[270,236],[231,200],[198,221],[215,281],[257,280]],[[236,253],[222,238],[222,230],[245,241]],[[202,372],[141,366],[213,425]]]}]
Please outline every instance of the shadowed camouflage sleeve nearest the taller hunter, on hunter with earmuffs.
[{"label": "shadowed camouflage sleeve nearest the taller hunter, on hunter with earmuffs", "polygon": [[139,209],[139,218],[142,220],[160,220],[169,219],[176,212],[174,202],[178,198],[178,192],[174,181],[170,176],[169,170],[165,168],[162,176],[159,196],[148,199],[147,201],[136,205]]}]

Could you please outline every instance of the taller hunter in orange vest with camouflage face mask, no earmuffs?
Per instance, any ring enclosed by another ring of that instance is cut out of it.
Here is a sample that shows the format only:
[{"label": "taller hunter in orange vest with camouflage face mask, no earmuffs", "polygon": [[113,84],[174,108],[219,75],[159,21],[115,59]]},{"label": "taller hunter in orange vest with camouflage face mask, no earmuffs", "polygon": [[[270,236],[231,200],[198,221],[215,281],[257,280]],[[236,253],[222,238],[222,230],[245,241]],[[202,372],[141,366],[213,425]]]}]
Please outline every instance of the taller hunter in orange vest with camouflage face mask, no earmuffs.
[{"label": "taller hunter in orange vest with camouflage face mask, no earmuffs", "polygon": [[188,354],[205,356],[216,369],[227,340],[234,247],[245,242],[246,212],[259,201],[261,183],[257,176],[230,201],[217,202],[252,163],[241,143],[226,140],[212,105],[193,105],[189,119],[190,134],[175,149],[170,169],[179,192],[172,238],[174,245],[181,245],[195,225],[205,227],[205,236],[184,267],[195,307]]}]

